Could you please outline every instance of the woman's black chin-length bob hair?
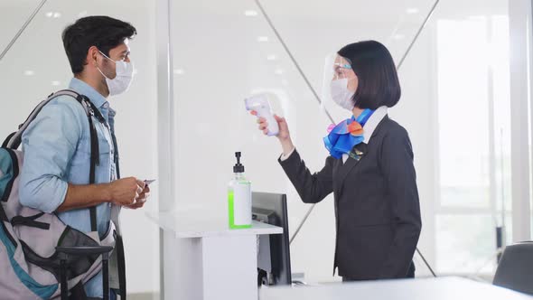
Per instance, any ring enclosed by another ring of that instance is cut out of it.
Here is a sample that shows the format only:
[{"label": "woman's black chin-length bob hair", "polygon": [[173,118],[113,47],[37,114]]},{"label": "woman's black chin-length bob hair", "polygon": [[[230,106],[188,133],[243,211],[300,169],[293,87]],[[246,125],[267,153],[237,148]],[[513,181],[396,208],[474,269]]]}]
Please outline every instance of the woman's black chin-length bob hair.
[{"label": "woman's black chin-length bob hair", "polygon": [[354,42],[337,52],[350,61],[359,79],[353,95],[355,106],[361,109],[394,107],[401,97],[394,61],[387,48],[376,41]]}]

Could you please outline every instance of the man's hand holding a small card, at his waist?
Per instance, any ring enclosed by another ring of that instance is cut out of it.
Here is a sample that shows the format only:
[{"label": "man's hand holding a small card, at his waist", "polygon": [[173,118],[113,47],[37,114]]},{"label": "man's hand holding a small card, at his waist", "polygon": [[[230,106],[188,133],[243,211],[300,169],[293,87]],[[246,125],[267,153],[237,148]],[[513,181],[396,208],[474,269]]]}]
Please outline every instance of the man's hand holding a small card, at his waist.
[{"label": "man's hand holding a small card, at his waist", "polygon": [[124,206],[133,205],[140,195],[145,195],[145,183],[135,177],[119,179],[109,183],[109,193],[111,202]]}]

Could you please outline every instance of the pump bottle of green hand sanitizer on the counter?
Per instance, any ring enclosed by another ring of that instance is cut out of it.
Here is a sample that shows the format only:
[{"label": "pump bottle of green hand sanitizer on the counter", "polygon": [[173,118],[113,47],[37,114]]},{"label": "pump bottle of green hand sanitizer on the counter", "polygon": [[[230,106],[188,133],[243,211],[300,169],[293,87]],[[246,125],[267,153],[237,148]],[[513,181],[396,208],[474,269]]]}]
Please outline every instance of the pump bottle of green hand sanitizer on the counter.
[{"label": "pump bottle of green hand sanitizer on the counter", "polygon": [[233,179],[228,187],[229,229],[252,227],[251,183],[244,177],[244,165],[240,164],[240,152],[235,153],[237,164],[233,166]]}]

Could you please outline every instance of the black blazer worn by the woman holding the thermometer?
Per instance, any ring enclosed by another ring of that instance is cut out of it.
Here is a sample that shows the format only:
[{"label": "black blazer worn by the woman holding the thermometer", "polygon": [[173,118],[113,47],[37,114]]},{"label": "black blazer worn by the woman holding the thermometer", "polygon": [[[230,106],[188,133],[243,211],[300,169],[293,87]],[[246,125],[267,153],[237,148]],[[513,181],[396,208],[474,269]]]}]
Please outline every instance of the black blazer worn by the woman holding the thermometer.
[{"label": "black blazer worn by the woman holding the thermometer", "polygon": [[369,145],[356,145],[344,164],[329,156],[318,173],[310,173],[296,151],[279,163],[305,203],[333,192],[333,271],[338,267],[341,277],[354,280],[407,276],[422,222],[405,128],[384,117]]}]

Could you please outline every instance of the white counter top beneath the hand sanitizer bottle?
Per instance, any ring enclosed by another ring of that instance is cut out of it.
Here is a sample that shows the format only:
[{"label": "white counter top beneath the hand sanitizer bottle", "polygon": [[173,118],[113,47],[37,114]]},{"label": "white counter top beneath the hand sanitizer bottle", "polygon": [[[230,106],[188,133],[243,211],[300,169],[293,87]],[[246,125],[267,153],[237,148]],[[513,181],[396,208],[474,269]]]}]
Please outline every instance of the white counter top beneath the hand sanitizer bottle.
[{"label": "white counter top beneath the hand sanitizer bottle", "polygon": [[213,211],[146,212],[163,230],[173,231],[178,239],[230,235],[281,234],[281,227],[253,221],[252,228],[230,230],[228,223],[213,216]]}]

